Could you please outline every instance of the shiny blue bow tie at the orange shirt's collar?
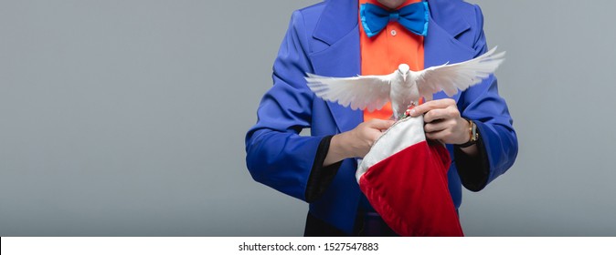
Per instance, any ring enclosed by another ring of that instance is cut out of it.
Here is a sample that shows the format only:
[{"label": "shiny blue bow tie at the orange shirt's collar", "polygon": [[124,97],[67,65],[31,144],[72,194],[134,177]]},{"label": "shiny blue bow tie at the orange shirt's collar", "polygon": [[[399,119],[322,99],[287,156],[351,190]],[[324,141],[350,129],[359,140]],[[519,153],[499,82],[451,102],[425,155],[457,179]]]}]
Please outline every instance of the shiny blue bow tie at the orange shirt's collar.
[{"label": "shiny blue bow tie at the orange shirt's collar", "polygon": [[388,26],[389,21],[398,22],[414,34],[428,35],[430,9],[426,2],[406,5],[396,11],[388,11],[378,5],[364,4],[359,7],[359,15],[368,37],[377,36],[385,26]]}]

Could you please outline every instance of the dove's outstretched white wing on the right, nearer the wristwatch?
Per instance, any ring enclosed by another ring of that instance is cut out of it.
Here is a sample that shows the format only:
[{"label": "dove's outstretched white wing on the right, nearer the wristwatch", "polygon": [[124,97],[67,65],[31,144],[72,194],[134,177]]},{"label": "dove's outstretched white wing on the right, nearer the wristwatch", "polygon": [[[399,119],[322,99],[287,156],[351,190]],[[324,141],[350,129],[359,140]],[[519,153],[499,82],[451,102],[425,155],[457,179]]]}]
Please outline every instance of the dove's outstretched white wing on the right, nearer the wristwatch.
[{"label": "dove's outstretched white wing on the right, nearer the wristwatch", "polygon": [[480,83],[504,61],[504,52],[495,52],[496,47],[465,62],[432,66],[418,72],[416,76],[420,96],[431,100],[432,94],[442,90],[451,97],[458,93],[458,89],[464,90]]}]

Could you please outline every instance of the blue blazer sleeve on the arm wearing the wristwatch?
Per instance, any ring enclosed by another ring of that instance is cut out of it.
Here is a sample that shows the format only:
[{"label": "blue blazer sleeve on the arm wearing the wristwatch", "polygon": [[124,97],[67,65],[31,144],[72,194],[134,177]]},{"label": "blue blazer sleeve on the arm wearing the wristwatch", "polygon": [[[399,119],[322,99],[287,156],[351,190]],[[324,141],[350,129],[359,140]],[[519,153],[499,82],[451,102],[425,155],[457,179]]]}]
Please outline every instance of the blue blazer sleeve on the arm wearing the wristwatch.
[{"label": "blue blazer sleeve on the arm wearing the wristwatch", "polygon": [[[483,34],[483,14],[478,5],[474,5],[477,31],[473,49],[480,56],[488,50]],[[466,189],[479,191],[488,183],[511,168],[517,156],[517,137],[513,128],[513,119],[503,97],[498,95],[498,82],[495,76],[483,80],[483,83],[462,92],[458,101],[462,117],[472,119],[478,128],[481,142],[479,158],[470,163],[471,158],[455,149],[456,166]]]}]

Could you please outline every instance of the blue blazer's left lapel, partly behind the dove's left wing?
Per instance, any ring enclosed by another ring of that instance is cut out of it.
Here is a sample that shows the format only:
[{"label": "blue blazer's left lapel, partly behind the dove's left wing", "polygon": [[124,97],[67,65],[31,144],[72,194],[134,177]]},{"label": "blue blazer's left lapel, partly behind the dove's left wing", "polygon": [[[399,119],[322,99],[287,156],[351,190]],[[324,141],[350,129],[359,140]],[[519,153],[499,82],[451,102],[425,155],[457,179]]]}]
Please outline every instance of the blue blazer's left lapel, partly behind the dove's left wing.
[{"label": "blue blazer's left lapel, partly behind the dove's left wing", "polygon": [[[314,73],[320,76],[347,77],[361,73],[357,0],[328,1],[313,37],[328,45],[311,54]],[[319,99],[320,100],[320,99]],[[351,130],[364,119],[363,111],[326,102],[338,131]]]}]

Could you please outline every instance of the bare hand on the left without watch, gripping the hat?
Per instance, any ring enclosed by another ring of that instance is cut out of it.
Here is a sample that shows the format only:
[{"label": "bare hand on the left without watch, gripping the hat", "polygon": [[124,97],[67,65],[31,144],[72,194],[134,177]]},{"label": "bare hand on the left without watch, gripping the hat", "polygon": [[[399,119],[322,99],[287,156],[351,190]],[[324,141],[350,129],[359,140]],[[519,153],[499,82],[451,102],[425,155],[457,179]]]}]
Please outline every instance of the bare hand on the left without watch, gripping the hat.
[{"label": "bare hand on the left without watch, gripping the hat", "polygon": [[364,158],[372,145],[383,135],[383,131],[394,124],[394,120],[371,119],[350,131],[335,135],[330,141],[324,167],[345,158]]}]

